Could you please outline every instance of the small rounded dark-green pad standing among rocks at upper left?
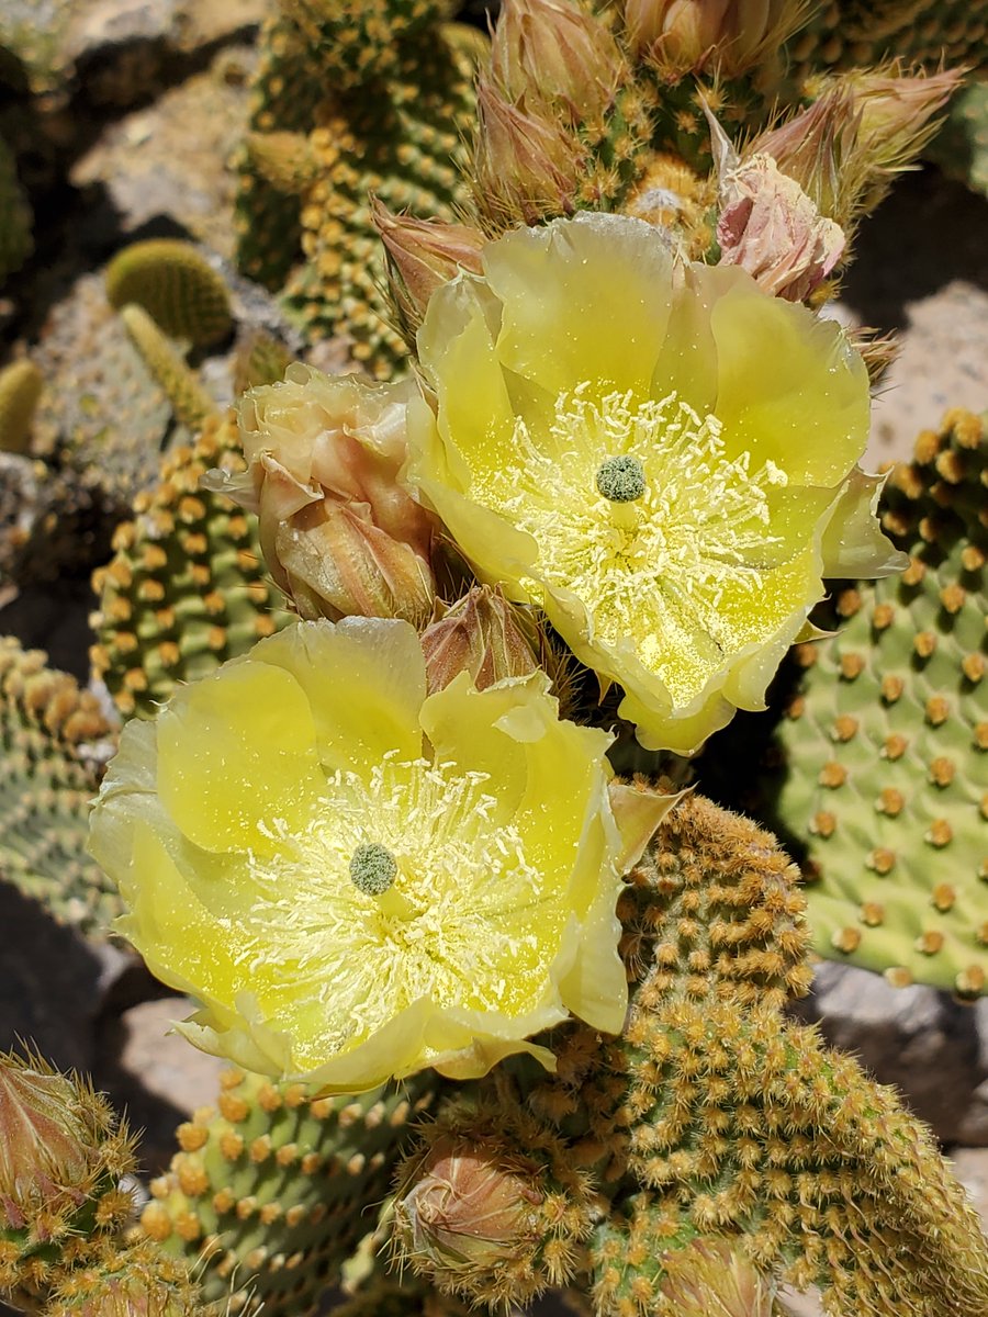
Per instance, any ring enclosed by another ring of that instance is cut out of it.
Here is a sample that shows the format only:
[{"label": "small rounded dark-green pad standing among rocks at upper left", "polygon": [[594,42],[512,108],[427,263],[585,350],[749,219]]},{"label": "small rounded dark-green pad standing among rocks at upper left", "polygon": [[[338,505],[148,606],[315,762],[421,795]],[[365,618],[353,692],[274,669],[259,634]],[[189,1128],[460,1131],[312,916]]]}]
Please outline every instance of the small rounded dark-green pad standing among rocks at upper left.
[{"label": "small rounded dark-green pad standing among rocks at upper left", "polygon": [[227,284],[191,242],[134,242],[113,257],[104,278],[111,306],[136,303],[171,338],[203,348],[233,328]]}]

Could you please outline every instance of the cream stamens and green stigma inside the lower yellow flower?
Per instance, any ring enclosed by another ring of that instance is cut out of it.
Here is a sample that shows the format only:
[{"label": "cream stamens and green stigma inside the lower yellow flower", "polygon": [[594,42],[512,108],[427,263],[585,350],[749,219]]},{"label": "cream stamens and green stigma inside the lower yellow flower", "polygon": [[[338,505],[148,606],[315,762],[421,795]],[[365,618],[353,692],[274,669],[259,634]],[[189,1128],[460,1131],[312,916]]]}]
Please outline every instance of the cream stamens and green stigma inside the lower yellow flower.
[{"label": "cream stamens and green stigma inside the lower yellow flower", "polygon": [[527,859],[486,784],[389,757],[369,778],[331,774],[304,828],[262,826],[279,844],[250,860],[260,897],[242,960],[283,984],[273,993],[295,1022],[307,1004],[292,1033],[314,1058],[356,1046],[422,997],[507,1015],[536,1006],[564,893]]}]

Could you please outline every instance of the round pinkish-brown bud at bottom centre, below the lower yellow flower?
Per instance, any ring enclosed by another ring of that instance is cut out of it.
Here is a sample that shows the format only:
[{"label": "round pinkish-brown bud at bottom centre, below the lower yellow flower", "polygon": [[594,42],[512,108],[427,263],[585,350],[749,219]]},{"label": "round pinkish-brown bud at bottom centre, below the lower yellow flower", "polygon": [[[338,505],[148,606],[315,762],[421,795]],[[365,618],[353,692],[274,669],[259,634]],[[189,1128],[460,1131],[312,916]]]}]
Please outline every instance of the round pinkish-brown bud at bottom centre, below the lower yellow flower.
[{"label": "round pinkish-brown bud at bottom centre, below the lower yellow flower", "polygon": [[[483,1144],[440,1138],[395,1202],[403,1249],[440,1285],[530,1251],[540,1233],[537,1167],[508,1169]],[[526,1171],[528,1172],[526,1175]]]}]

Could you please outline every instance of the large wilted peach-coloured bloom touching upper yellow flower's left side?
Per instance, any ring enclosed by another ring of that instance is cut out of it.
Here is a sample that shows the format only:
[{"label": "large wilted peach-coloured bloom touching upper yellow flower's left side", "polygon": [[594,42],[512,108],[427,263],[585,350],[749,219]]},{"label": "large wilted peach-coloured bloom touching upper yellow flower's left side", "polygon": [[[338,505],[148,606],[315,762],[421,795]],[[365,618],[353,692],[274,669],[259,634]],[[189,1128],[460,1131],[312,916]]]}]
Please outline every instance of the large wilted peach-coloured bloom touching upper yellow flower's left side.
[{"label": "large wilted peach-coloured bloom touching upper yellow flower's left side", "polygon": [[295,363],[240,403],[246,477],[204,483],[258,514],[265,561],[303,618],[432,610],[433,522],[397,479],[414,392]]}]

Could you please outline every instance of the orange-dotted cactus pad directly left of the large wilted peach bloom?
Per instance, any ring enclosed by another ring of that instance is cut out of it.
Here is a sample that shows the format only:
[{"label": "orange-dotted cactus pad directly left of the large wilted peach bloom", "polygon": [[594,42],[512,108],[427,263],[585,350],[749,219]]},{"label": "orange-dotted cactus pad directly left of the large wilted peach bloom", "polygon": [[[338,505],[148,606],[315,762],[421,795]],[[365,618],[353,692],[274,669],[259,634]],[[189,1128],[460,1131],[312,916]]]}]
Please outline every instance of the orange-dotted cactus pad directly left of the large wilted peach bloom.
[{"label": "orange-dotted cactus pad directly left of the large wilted peach bloom", "polygon": [[212,672],[290,620],[269,583],[256,520],[199,487],[207,470],[242,469],[233,420],[213,417],[191,448],[163,462],[115,556],[94,577],[96,673],[124,715],[153,715],[175,682]]}]

